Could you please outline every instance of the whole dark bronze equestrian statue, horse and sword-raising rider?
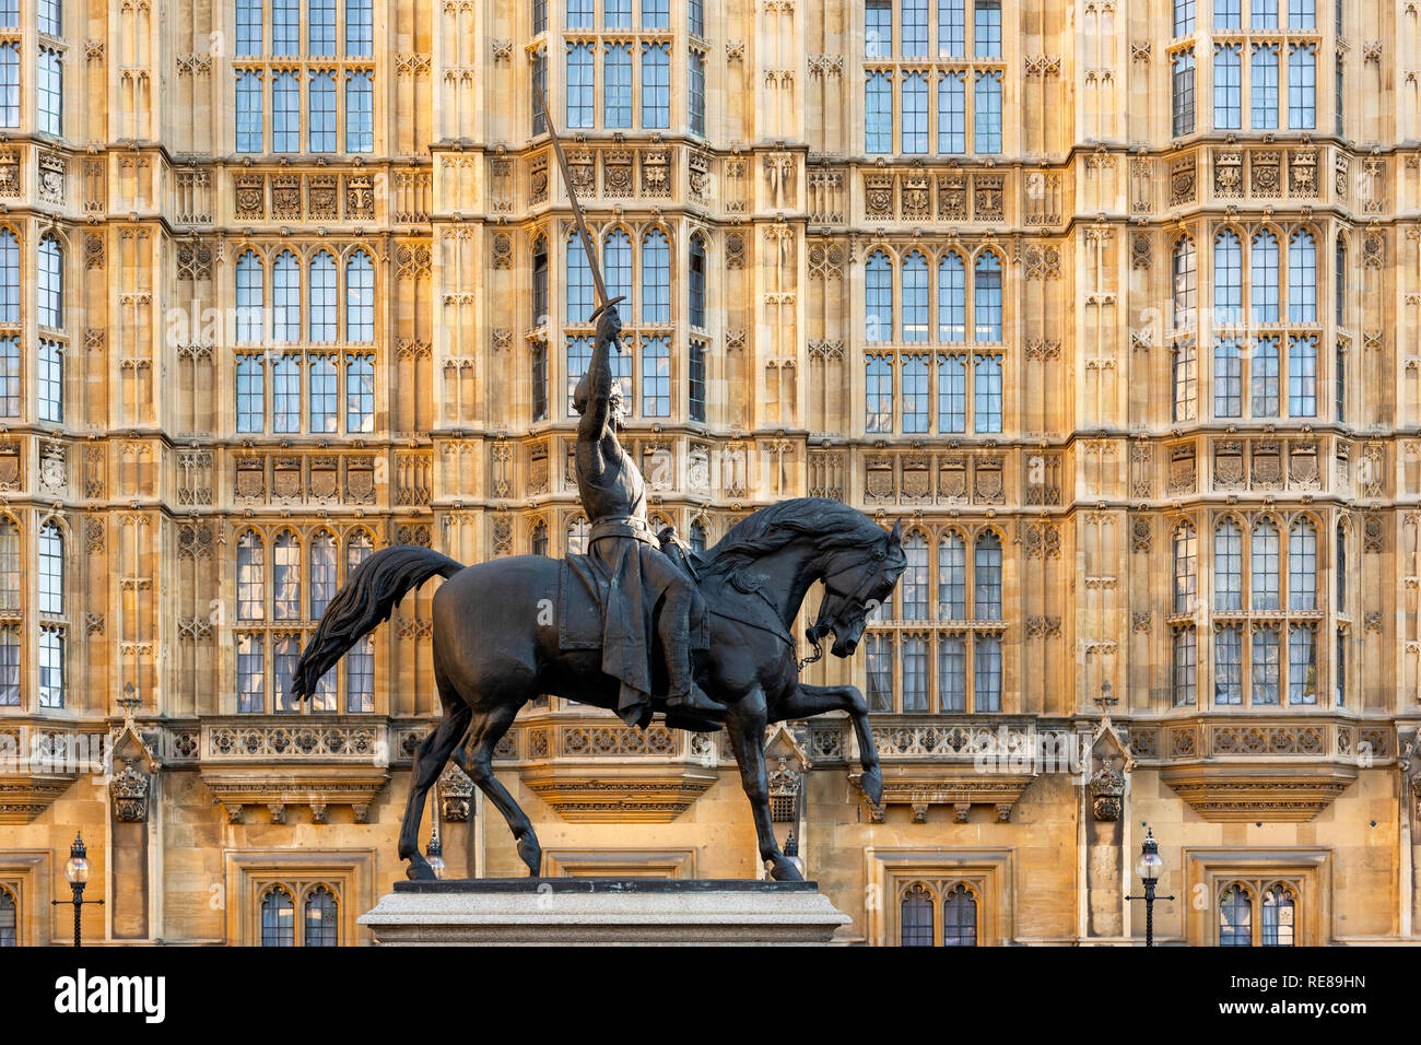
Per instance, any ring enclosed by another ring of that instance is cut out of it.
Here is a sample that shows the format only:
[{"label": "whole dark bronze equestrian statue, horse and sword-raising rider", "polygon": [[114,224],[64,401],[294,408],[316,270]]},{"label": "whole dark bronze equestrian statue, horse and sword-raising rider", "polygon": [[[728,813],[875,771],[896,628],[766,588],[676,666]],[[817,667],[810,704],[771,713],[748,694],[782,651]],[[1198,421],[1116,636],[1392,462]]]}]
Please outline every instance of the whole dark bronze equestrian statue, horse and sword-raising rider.
[{"label": "whole dark bronze equestrian statue, horse and sword-raising rider", "polygon": [[800,880],[770,822],[766,727],[847,711],[858,738],[860,786],[871,802],[882,798],[882,776],[858,688],[799,680],[794,620],[810,587],[821,582],[818,614],[806,637],[818,651],[833,633],[834,655],[853,655],[870,611],[892,594],[907,564],[899,526],[884,532],[837,500],[796,498],[753,512],[699,554],[671,527],[652,536],[641,471],[617,438],[621,388],[610,353],[620,351],[621,299],[607,299],[556,135],[553,145],[598,300],[593,357],[573,397],[581,415],[578,496],[591,523],[587,554],[463,566],[426,547],[379,550],[331,600],[293,671],[291,695],[310,697],[408,591],[443,577],[433,597],[443,717],[415,752],[399,832],[399,857],[409,862],[411,879],[435,877],[419,852],[418,830],[425,798],[450,758],[503,813],[529,873],[540,873],[533,825],[495,776],[493,751],[519,708],[556,694],[608,708],[634,727],[647,727],[657,712],[672,728],[723,727],[755,815],[760,859],[773,879]]}]

